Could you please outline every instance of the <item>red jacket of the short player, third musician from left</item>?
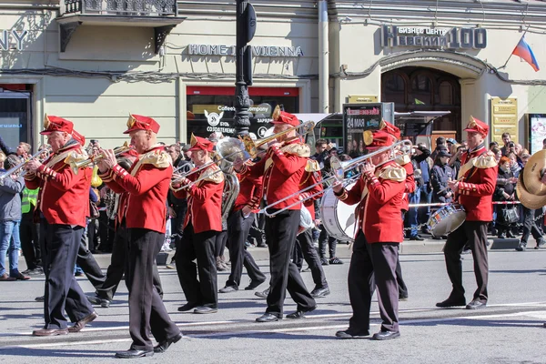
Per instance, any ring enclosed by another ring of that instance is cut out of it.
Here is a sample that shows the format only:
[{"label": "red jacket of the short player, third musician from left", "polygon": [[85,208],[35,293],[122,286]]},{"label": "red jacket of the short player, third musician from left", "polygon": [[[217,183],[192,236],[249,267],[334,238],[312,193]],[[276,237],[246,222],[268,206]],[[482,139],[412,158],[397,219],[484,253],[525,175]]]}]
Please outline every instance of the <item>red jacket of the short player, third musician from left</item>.
[{"label": "red jacket of the short player, third musician from left", "polygon": [[[195,169],[197,167],[192,170]],[[189,175],[187,179],[195,181],[200,176],[206,176],[218,169],[217,165],[212,165]],[[222,231],[222,195],[224,192],[224,174],[222,172],[210,175],[192,187],[174,192],[178,198],[187,198],[184,227],[187,227],[191,219],[191,225],[196,234],[209,230]]]}]

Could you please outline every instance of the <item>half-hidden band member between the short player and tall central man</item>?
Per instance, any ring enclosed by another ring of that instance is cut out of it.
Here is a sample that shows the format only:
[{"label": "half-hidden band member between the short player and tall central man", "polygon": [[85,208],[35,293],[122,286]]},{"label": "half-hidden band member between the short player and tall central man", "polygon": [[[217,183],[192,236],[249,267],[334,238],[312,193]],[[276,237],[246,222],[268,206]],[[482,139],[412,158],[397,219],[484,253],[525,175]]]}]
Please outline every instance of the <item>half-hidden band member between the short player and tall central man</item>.
[{"label": "half-hidden band member between the short player and tall central man", "polygon": [[[242,152],[243,153],[243,152]],[[227,248],[229,249],[229,261],[231,273],[227,278],[226,287],[219,290],[220,293],[228,293],[238,290],[243,274],[243,266],[247,268],[250,283],[245,289],[252,290],[266,281],[266,276],[259,270],[258,265],[245,247],[248,232],[254,222],[255,211],[259,209],[262,194],[262,176],[251,176],[249,170],[241,172],[243,165],[253,166],[242,157],[237,157],[233,164],[239,181],[239,194],[235,204],[227,217]]]}]

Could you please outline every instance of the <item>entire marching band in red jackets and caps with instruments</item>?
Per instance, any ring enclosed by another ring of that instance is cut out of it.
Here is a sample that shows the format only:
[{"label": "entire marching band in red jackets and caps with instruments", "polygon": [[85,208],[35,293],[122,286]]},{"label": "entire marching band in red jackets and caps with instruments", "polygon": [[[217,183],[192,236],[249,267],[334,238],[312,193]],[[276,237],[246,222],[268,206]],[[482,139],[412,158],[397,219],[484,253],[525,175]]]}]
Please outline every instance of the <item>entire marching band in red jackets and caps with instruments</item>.
[{"label": "entire marching band in red jackets and caps with instruments", "polygon": [[[106,149],[98,156],[87,157],[83,150],[85,137],[76,132],[72,122],[45,116],[45,130],[41,134],[47,136],[51,154],[43,162],[33,156],[23,163],[25,186],[39,188],[35,219],[45,229],[45,244],[41,247],[45,326],[33,334],[65,335],[83,329],[98,318],[89,300],[107,307],[125,272],[133,342],[127,351],[116,353],[116,358],[151,356],[182,338],[163,304],[156,265],[166,231],[169,189],[174,197],[187,202],[175,259],[187,303],[178,311],[217,312],[215,242],[222,231],[227,231],[231,272],[219,292],[238,290],[243,267],[250,278],[245,289],[257,288],[265,282],[266,276],[245,247],[251,221],[259,211],[266,215],[270,280],[267,308],[256,321],[285,318],[287,291],[298,306],[286,318],[301,319],[318,307],[315,298],[329,294],[310,230],[302,220],[307,214],[311,221],[315,220],[314,201],[331,189],[339,201],[356,206],[356,223],[349,237],[354,239],[348,278],[353,313],[348,329],[338,331],[336,336],[369,337],[371,298],[377,289],[382,322],[372,339],[399,338],[399,298],[407,297],[399,266],[399,244],[404,238],[403,214],[409,208],[408,194],[415,188],[410,143],[402,140],[396,126],[382,122],[379,130],[364,134],[367,155],[348,162],[331,157],[333,176],[321,178],[319,163],[309,158],[310,149],[302,139],[308,132],[307,126],[300,124],[296,116],[278,109],[272,123],[272,136],[254,142],[243,138],[235,148],[237,140],[232,140],[229,147],[217,145],[215,149],[211,141],[192,136],[188,152],[195,167],[173,173],[174,161],[157,144],[159,125],[151,117],[129,116],[124,133],[131,138],[130,147]],[[489,126],[470,117],[465,131],[469,151],[462,157],[458,179],[448,181],[448,186],[453,202],[460,204],[466,218],[445,234],[448,238],[444,257],[452,290],[446,300],[436,304],[440,308],[484,308],[489,298],[487,224],[492,219],[491,196],[497,162],[483,144]],[[252,160],[257,149],[265,150],[265,157]],[[99,177],[116,194],[113,198],[116,248],[104,284],[88,300],[72,269],[89,217],[90,164],[96,164]],[[358,176],[346,180],[344,173],[353,168],[358,169]],[[231,182],[227,183],[228,180]],[[546,184],[546,177],[542,183]],[[531,204],[533,192],[530,194],[523,182],[518,187],[524,204]],[[235,196],[230,196],[234,193]],[[546,204],[546,197],[540,196],[540,203]],[[260,204],[265,206],[261,210]],[[223,220],[227,225],[222,226]],[[315,287],[311,291],[292,261],[296,244],[303,249],[313,273]],[[460,262],[461,251],[467,244],[472,250],[478,285],[468,305]],[[65,313],[74,322],[73,326],[68,327]],[[155,347],[150,333],[157,341]]]}]

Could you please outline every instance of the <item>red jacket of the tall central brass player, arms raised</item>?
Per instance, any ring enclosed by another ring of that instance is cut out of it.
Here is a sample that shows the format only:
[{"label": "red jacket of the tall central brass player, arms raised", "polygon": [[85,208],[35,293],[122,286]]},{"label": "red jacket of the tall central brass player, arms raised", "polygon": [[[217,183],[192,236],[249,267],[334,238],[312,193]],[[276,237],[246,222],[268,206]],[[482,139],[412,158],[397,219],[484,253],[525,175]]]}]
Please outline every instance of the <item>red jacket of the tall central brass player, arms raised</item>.
[{"label": "red jacket of the tall central brass player, arms raised", "polygon": [[263,193],[269,204],[277,202],[284,197],[295,194],[286,201],[278,203],[274,208],[289,207],[298,210],[301,204],[297,204],[299,196],[299,183],[305,173],[310,149],[307,144],[300,143],[297,139],[286,142],[284,147],[269,147],[268,154],[254,166],[246,167],[251,176],[264,176]]}]

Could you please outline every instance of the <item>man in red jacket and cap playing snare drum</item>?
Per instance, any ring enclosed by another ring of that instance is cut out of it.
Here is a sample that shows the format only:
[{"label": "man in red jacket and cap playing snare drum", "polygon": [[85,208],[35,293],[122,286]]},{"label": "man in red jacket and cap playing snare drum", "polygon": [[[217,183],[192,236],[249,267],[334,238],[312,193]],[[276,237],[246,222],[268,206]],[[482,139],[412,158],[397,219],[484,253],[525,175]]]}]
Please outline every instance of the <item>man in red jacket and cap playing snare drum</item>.
[{"label": "man in red jacket and cap playing snare drum", "polygon": [[441,308],[466,305],[460,262],[460,252],[466,244],[472,250],[478,284],[466,308],[485,308],[488,300],[487,226],[493,217],[492,196],[497,181],[497,160],[484,144],[489,134],[487,124],[470,116],[470,123],[464,130],[468,135],[469,151],[461,157],[460,179],[449,181],[448,186],[458,195],[455,199],[464,207],[467,216],[465,222],[448,236],[444,248],[446,268],[453,288],[449,298],[436,304]]}]

